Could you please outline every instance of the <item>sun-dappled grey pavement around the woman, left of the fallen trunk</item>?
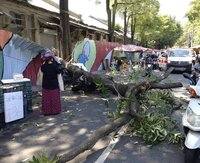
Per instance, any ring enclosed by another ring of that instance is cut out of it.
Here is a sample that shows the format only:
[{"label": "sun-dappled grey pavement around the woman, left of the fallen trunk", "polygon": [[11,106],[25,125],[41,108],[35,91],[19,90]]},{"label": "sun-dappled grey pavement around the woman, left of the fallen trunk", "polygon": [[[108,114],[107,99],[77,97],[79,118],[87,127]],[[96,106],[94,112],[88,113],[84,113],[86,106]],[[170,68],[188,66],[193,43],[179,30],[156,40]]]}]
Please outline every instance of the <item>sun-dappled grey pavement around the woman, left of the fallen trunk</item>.
[{"label": "sun-dappled grey pavement around the woman, left of the fallen trunk", "polygon": [[115,108],[114,98],[110,98],[111,104],[106,108],[98,95],[74,93],[67,88],[61,96],[62,113],[43,116],[41,96],[34,91],[33,112],[0,130],[0,163],[28,162],[41,152],[50,157],[66,152],[109,121],[106,113]]}]

